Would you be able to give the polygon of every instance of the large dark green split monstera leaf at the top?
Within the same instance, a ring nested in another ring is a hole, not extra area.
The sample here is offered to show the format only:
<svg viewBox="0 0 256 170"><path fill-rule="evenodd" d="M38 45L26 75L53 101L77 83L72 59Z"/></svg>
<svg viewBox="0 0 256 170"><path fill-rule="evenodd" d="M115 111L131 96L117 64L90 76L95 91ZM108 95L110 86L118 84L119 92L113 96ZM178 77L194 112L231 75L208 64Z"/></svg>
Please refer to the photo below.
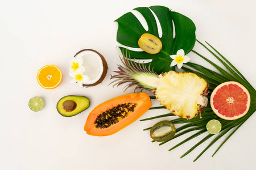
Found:
<svg viewBox="0 0 256 170"><path fill-rule="evenodd" d="M129 50L130 57L135 59L152 59L151 62L146 63L146 66L151 63L151 68L154 67L154 71L158 74L175 70L174 67L170 67L172 61L170 55L176 54L179 49L183 49L185 54L192 50L196 41L195 24L186 16L173 12L163 6L138 7L134 10L142 14L148 25L148 30L146 31L143 28L133 13L128 12L115 20L118 23L117 41L130 48L139 48L139 37L143 33L151 33L162 41L162 50L158 54ZM162 29L161 37L159 37L159 28L152 12L154 12L159 20L160 29ZM119 48L126 50L123 47Z"/></svg>

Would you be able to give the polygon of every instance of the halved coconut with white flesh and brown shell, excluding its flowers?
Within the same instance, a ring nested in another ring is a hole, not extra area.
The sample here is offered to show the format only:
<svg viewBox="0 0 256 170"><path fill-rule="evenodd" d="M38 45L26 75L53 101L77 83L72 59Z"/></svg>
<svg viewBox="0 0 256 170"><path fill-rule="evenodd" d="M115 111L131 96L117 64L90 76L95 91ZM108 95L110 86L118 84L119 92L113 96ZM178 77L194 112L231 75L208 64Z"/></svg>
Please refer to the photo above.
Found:
<svg viewBox="0 0 256 170"><path fill-rule="evenodd" d="M84 87L96 86L104 80L108 65L105 58L96 50L83 49L76 53L74 57L82 57L82 66L85 68L85 75L89 77L89 82L82 84Z"/></svg>

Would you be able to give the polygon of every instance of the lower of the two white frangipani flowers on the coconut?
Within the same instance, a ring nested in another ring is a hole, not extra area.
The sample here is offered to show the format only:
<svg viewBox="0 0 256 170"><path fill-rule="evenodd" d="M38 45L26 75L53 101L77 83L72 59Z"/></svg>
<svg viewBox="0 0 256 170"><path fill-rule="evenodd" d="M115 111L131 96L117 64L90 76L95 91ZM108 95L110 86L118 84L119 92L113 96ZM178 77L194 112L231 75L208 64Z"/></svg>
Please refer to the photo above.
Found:
<svg viewBox="0 0 256 170"><path fill-rule="evenodd" d="M76 69L76 71L72 71L69 75L73 78L71 83L77 83L80 87L82 87L83 83L90 80L87 75L84 75L84 71L81 68Z"/></svg>

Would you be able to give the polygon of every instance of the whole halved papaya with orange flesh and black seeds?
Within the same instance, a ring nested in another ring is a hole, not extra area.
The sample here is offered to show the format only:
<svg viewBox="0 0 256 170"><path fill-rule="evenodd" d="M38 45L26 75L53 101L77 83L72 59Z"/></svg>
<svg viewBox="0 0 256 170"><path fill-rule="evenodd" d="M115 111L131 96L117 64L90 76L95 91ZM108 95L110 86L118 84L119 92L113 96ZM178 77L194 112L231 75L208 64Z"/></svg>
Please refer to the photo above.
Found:
<svg viewBox="0 0 256 170"><path fill-rule="evenodd" d="M141 117L151 105L144 92L115 97L90 112L84 130L94 136L112 135Z"/></svg>

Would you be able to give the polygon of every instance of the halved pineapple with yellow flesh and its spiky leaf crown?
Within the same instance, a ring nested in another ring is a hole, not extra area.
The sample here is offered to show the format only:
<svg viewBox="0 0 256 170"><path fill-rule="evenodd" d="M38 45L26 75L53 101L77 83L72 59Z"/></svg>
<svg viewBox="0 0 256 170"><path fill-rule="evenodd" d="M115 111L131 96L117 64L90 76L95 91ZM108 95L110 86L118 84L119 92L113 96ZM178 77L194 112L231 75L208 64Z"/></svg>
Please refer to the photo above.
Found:
<svg viewBox="0 0 256 170"><path fill-rule="evenodd" d="M138 65L125 57L124 53L122 63L125 67L118 65L119 71L114 71L118 74L112 76L112 79L116 79L112 82L116 82L113 86L129 83L126 89L136 86L135 90L152 90L162 105L187 119L195 117L201 113L201 108L207 106L205 96L208 94L208 83L196 74L169 71L157 75L150 67L147 69L144 65Z"/></svg>

